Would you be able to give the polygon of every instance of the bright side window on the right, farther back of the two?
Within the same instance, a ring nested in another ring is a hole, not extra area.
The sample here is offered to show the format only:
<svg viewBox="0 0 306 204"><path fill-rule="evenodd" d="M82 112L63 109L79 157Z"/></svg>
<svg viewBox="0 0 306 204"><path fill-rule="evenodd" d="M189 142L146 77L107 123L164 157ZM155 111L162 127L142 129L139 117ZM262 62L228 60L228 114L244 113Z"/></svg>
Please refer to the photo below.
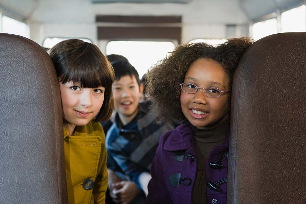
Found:
<svg viewBox="0 0 306 204"><path fill-rule="evenodd" d="M277 21L276 18L264 20L253 24L253 39L259 40L268 35L277 33Z"/></svg>

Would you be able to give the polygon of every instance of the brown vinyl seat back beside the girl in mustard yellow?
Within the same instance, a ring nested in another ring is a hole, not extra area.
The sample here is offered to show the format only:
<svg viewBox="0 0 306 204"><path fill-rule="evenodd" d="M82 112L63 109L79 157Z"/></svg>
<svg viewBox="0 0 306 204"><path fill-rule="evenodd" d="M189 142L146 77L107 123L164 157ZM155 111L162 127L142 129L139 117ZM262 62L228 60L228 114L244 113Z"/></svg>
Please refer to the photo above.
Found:
<svg viewBox="0 0 306 204"><path fill-rule="evenodd" d="M0 33L0 203L67 203L59 84L47 52Z"/></svg>

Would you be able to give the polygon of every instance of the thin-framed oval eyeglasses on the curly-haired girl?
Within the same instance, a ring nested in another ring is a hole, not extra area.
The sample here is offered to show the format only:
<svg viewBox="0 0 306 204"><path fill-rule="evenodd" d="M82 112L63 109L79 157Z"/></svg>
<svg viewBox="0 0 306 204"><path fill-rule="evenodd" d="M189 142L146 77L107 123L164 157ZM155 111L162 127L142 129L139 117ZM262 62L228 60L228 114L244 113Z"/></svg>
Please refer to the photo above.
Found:
<svg viewBox="0 0 306 204"><path fill-rule="evenodd" d="M221 91L221 89L216 87L197 87L196 85L193 85L192 83L180 83L180 86L182 88L182 91L184 91L187 94L195 94L199 91L199 89L203 89L203 93L210 97L210 98L218 98L221 96L221 94L226 94L230 91Z"/></svg>

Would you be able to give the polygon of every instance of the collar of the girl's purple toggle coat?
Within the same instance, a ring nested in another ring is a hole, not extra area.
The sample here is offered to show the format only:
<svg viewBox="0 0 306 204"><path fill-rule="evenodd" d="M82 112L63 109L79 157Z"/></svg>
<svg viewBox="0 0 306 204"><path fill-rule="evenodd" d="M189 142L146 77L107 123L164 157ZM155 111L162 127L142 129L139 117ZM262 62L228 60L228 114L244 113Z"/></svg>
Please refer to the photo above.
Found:
<svg viewBox="0 0 306 204"><path fill-rule="evenodd" d="M226 137L221 144L221 147L229 146L230 127L226 128ZM192 131L191 123L184 121L182 124L175 128L168 139L166 140L163 148L166 151L179 151L187 150L194 146L194 132Z"/></svg>

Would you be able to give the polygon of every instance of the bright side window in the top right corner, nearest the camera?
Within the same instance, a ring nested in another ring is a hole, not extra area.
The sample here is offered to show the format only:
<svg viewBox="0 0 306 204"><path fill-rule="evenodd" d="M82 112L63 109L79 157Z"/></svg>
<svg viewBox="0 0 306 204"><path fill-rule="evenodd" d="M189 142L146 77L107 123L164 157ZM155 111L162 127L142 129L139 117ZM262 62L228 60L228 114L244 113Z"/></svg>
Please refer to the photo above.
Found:
<svg viewBox="0 0 306 204"><path fill-rule="evenodd" d="M304 32L306 31L306 6L285 11L281 15L282 32Z"/></svg>

